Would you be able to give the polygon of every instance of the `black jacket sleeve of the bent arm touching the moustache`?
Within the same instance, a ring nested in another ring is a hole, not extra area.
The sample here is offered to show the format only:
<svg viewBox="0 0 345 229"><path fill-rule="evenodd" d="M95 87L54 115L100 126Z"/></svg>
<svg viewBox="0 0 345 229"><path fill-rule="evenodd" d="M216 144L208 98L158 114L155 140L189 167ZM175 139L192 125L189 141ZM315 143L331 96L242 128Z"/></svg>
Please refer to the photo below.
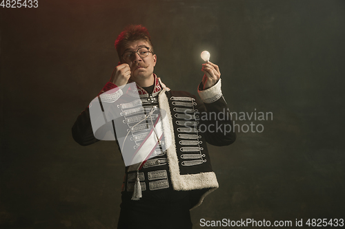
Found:
<svg viewBox="0 0 345 229"><path fill-rule="evenodd" d="M97 97L106 91L115 89L116 87L117 86L113 83L110 83L110 82L106 83L106 85L103 87L101 92L99 92ZM99 141L99 138L98 139L95 138L95 135L92 131L92 123L91 123L91 118L90 118L90 105L86 107L86 109L83 110L79 114L79 116L77 117L77 120L75 121L75 124L73 124L72 126L72 137L81 146L88 146L90 144L93 144ZM102 128L100 128L97 131L106 133L107 131L110 131L109 127L111 127L110 124L104 125ZM101 133L99 135L101 135Z"/></svg>

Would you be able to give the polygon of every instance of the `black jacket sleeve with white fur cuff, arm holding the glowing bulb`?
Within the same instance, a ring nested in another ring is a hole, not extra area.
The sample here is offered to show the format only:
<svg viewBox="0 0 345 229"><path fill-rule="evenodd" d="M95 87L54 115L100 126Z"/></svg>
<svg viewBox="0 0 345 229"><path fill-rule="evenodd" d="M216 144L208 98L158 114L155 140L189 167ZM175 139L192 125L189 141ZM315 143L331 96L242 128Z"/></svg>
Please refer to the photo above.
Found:
<svg viewBox="0 0 345 229"><path fill-rule="evenodd" d="M204 132L206 142L215 146L227 146L236 140L233 120L224 96L221 94L221 79L210 87L202 90L199 84L198 94L202 102L197 101L199 107L199 130Z"/></svg>

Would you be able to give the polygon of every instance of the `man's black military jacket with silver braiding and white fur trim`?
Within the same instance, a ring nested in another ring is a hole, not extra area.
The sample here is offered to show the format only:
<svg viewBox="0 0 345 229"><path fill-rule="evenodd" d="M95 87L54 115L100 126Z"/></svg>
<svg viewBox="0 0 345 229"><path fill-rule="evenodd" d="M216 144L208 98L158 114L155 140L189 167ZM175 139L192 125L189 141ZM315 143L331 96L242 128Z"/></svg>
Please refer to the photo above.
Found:
<svg viewBox="0 0 345 229"><path fill-rule="evenodd" d="M141 190L143 192L164 188L177 191L190 190L194 193L192 201L195 208L201 204L206 195L219 186L210 164L206 142L216 146L226 146L232 144L236 138L230 112L221 94L221 79L206 90L202 90L202 83L199 85L198 93L201 101L186 91L171 91L157 76L155 76L155 89L152 94L147 94L144 89L137 87L139 100L126 102L128 100L123 99L128 96L126 91L108 82L97 97L103 113L106 113L104 118L108 116L107 112L115 113L117 118L108 122L108 125L99 124L99 126L103 125L103 131L97 133L92 130L90 105L94 105L90 103L73 125L72 136L76 142L86 146L99 141L102 138L99 135L104 137L107 131L112 132L116 138L113 129L122 128L121 125L124 125L125 129L127 126L134 128L127 129L129 137L124 138L125 142L117 141L120 151L125 143L130 147L140 147L144 144L150 130L152 132L152 124L157 121L159 114L155 115L151 112L156 119L153 122L146 120L144 127L144 123L135 124L142 116L139 112L147 114L148 111L152 111L152 107L158 107L164 111L161 115L163 132L161 143L165 144L165 147L155 147L150 157L141 164L139 168ZM112 93L107 93L107 91L112 91ZM117 105L107 111L106 102L115 101ZM142 108L136 108L138 102L141 102ZM98 139L95 135L98 135ZM123 191L132 191L136 179L137 173L130 171L129 167L126 167Z"/></svg>

